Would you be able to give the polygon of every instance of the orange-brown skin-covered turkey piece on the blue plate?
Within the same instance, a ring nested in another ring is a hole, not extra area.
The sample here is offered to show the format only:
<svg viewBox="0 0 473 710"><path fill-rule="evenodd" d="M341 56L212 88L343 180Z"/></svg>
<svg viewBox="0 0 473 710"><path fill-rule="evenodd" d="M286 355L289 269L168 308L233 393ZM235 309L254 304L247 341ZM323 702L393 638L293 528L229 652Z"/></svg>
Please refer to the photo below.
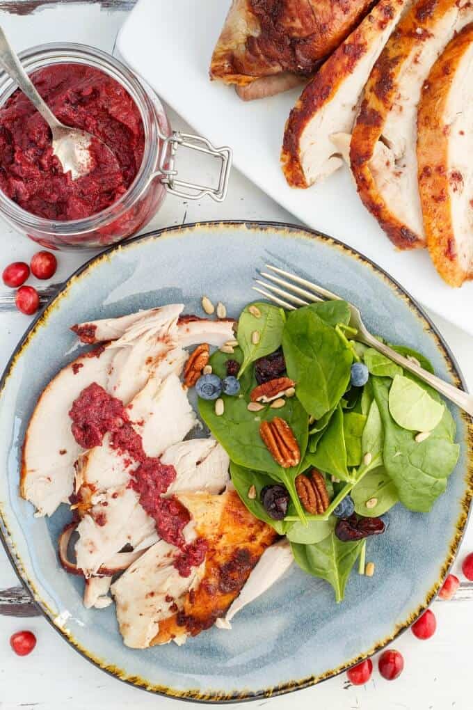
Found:
<svg viewBox="0 0 473 710"><path fill-rule="evenodd" d="M212 504L206 498L212 499ZM182 609L178 604L179 614L176 610L160 619L151 645L176 638L182 643L183 637L213 626L225 615L263 552L277 537L273 528L245 508L235 491L221 496L181 495L179 500L191 512L197 535L208 544L205 569L199 584L185 595Z"/></svg>

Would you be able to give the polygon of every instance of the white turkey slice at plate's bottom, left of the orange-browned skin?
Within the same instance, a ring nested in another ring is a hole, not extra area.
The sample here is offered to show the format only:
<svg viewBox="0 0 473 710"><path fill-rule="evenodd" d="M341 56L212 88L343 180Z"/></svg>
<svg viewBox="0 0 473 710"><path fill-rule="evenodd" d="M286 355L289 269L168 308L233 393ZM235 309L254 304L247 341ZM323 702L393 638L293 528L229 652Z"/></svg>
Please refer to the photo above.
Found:
<svg viewBox="0 0 473 710"><path fill-rule="evenodd" d="M129 648L148 648L160 621L184 604L184 595L199 583L204 564L181 577L173 566L179 550L160 540L113 583L111 592L123 642ZM177 637L185 637L185 629Z"/></svg>

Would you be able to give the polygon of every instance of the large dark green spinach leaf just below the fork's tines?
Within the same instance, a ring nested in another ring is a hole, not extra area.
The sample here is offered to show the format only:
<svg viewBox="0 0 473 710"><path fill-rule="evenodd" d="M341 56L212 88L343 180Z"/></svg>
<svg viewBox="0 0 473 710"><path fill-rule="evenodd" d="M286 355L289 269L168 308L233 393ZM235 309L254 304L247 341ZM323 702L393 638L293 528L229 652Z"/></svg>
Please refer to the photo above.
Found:
<svg viewBox="0 0 473 710"><path fill-rule="evenodd" d="M296 382L297 398L306 412L320 420L347 389L352 351L310 308L289 314L282 347L287 374Z"/></svg>

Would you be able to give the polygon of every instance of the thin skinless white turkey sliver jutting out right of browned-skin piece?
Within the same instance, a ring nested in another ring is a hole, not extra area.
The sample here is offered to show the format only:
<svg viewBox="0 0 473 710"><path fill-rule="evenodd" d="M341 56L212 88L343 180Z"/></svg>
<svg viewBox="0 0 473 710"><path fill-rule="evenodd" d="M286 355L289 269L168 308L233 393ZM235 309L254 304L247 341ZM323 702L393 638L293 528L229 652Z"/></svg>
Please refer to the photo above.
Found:
<svg viewBox="0 0 473 710"><path fill-rule="evenodd" d="M287 572L293 562L294 556L292 555L291 545L289 545L285 537L283 540L279 540L279 542L275 542L274 545L268 547L260 557L255 569L250 573L250 577L248 577L240 594L230 604L226 615L218 618L215 625L218 628L232 628L230 621L235 614L241 611L244 606L265 594L265 591L277 582L284 572Z"/></svg>

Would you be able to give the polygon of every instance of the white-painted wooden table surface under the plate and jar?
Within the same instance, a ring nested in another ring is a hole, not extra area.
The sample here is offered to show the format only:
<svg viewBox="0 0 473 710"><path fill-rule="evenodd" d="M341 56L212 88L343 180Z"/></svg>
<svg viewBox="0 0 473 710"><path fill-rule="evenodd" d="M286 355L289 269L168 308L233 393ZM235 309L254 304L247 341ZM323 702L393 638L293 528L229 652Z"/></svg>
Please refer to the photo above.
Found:
<svg viewBox="0 0 473 710"><path fill-rule="evenodd" d="M156 1L173 1L179 11L179 0ZM118 28L132 6L133 0L87 3L0 0L0 22L17 49L48 41L70 40L111 51ZM208 38L209 46L213 39ZM150 48L150 59L151 53ZM174 129L184 129L179 117L170 112L170 118ZM228 198L223 205L208 200L185 204L169 197L150 226L242 218L295 221L257 187L233 171ZM5 224L0 224L0 244L0 270L10 261L28 261L35 251L32 242L10 231ZM85 258L86 255L81 253L61 253L57 280L66 278ZM433 320L457 357L471 389L473 339L438 317ZM21 314L0 313L0 368L6 364L28 322L29 319ZM465 536L462 550L463 555L473 550L472 526ZM17 585L16 575L0 549L0 589ZM454 601L435 602L438 630L433 639L418 641L410 631L399 638L395 645L403 652L406 667L395 682L384 681L375 668L366 687L348 687L343 675L296 694L256 701L255 706L265 705L271 710L471 710L473 603L469 599L472 597L464 589ZM25 658L16 657L9 647L11 633L22 628L30 628L38 638L35 651ZM184 703L147 694L104 674L69 648L41 617L0 616L1 710L20 707L121 710L129 706L165 710L184 707ZM187 703L185 706L190 707Z"/></svg>

